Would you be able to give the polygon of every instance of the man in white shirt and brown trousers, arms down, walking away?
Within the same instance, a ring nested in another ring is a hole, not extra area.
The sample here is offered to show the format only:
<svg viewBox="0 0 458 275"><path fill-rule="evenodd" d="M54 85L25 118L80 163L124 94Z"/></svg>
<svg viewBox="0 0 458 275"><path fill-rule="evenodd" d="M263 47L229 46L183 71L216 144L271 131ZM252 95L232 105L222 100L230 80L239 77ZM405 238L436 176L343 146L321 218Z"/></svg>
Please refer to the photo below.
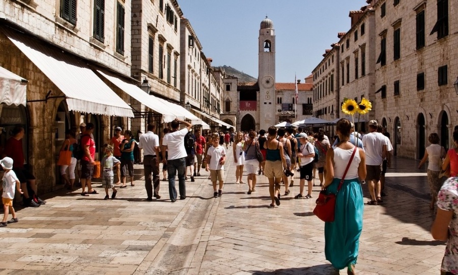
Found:
<svg viewBox="0 0 458 275"><path fill-rule="evenodd" d="M159 136L154 133L156 126L148 124L147 131L141 135L138 148L143 149L143 168L145 170L145 189L147 200L152 201L153 197L160 199L159 196ZM153 176L151 176L153 174ZM152 184L153 182L153 184ZM154 185L154 192L153 192Z"/></svg>

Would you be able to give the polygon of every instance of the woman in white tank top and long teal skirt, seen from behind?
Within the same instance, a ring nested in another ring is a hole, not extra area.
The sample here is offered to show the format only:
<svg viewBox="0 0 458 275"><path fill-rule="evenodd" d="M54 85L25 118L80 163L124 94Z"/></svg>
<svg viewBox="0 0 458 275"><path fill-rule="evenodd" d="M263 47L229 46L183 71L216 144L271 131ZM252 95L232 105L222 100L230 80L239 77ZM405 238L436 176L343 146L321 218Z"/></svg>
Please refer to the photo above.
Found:
<svg viewBox="0 0 458 275"><path fill-rule="evenodd" d="M363 223L363 194L360 180L366 177L365 155L361 148L350 140L352 126L350 120L337 121L336 131L340 142L326 154L326 181L323 189L327 194L337 194L335 220L325 223L326 260L337 269L347 267L348 274L355 273L358 258L359 236ZM340 179L345 173L353 150L357 150L344 178L344 184L337 192Z"/></svg>

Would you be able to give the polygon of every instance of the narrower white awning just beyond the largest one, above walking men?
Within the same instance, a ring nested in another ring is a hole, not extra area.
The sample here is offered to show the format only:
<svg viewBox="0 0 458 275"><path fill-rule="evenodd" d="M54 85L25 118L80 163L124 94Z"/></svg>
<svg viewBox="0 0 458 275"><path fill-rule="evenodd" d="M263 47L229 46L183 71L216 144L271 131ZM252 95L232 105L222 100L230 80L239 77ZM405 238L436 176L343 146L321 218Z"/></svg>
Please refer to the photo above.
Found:
<svg viewBox="0 0 458 275"><path fill-rule="evenodd" d="M104 74L101 71L97 72L99 72L103 77L108 79L111 83L115 84L118 88L125 91L126 94L139 101L141 104L145 104L148 108L152 109L153 111L162 114L163 123L169 123L170 121L174 120L175 117L177 117L174 114L173 110L170 110L168 105L165 105L157 97L148 95L140 87L124 82L123 80L117 77Z"/></svg>

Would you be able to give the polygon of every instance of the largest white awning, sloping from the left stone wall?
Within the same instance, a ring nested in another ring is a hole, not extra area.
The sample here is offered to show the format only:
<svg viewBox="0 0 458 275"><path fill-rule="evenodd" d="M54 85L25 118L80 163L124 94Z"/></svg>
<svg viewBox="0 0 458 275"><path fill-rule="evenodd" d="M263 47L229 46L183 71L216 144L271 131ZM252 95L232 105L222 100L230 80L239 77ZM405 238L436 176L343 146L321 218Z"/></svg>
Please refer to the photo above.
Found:
<svg viewBox="0 0 458 275"><path fill-rule="evenodd" d="M6 35L65 94L69 110L134 116L130 106L82 60L32 38L12 32Z"/></svg>

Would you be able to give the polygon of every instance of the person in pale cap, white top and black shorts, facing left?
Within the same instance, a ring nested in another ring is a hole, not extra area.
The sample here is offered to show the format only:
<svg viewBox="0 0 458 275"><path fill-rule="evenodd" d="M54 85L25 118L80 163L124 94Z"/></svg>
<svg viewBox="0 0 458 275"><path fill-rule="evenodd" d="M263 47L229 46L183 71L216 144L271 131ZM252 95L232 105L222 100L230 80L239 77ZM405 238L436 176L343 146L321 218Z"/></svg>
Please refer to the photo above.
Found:
<svg viewBox="0 0 458 275"><path fill-rule="evenodd" d="M300 158L300 181L299 181L299 194L297 194L295 199L311 199L312 195L312 170L313 170L313 160L315 157L314 146L310 143L307 134L304 132L298 135L299 142L301 144L297 156ZM307 195L304 196L304 186L305 180L308 184Z"/></svg>

